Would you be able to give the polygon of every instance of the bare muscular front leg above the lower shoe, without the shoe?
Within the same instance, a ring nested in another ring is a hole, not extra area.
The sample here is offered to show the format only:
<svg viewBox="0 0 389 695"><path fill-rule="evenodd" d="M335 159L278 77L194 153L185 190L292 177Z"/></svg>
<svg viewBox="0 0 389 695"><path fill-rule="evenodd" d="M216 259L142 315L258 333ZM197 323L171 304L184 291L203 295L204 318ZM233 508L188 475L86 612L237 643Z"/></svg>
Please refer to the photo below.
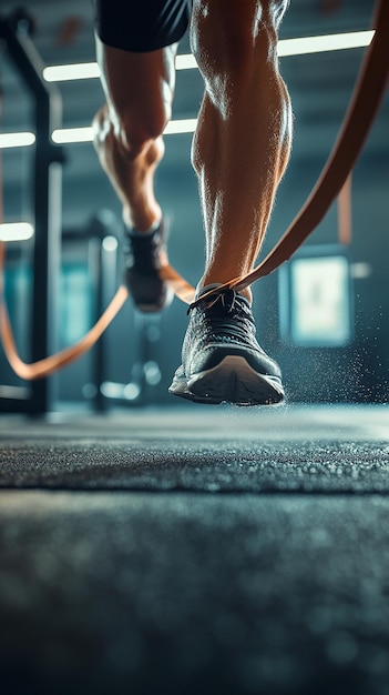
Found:
<svg viewBox="0 0 389 695"><path fill-rule="evenodd" d="M203 285L252 270L287 165L291 111L276 54L286 7L194 0L192 49L205 82L193 142L206 233Z"/></svg>

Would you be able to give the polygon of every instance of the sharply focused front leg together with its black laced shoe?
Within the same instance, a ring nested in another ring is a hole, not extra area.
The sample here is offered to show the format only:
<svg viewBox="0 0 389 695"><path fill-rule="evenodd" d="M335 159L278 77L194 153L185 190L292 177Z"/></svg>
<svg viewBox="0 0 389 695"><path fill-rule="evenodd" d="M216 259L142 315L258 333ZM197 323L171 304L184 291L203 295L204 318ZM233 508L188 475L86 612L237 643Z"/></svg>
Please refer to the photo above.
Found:
<svg viewBox="0 0 389 695"><path fill-rule="evenodd" d="M278 73L286 0L194 0L191 39L205 93L193 141L206 233L199 288L252 270L287 165L291 113ZM170 391L201 403L284 399L277 363L258 345L252 293L217 291L191 306Z"/></svg>

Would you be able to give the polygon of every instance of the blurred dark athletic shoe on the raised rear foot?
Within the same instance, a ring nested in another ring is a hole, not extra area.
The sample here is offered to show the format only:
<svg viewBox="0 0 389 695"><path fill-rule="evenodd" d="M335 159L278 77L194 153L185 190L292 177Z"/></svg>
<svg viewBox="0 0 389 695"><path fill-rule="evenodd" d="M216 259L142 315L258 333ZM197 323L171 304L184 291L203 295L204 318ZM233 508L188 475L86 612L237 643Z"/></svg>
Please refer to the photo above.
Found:
<svg viewBox="0 0 389 695"><path fill-rule="evenodd" d="M173 291L161 280L158 269L167 263L164 224L146 234L125 234L124 282L135 306L143 312L162 311Z"/></svg>

